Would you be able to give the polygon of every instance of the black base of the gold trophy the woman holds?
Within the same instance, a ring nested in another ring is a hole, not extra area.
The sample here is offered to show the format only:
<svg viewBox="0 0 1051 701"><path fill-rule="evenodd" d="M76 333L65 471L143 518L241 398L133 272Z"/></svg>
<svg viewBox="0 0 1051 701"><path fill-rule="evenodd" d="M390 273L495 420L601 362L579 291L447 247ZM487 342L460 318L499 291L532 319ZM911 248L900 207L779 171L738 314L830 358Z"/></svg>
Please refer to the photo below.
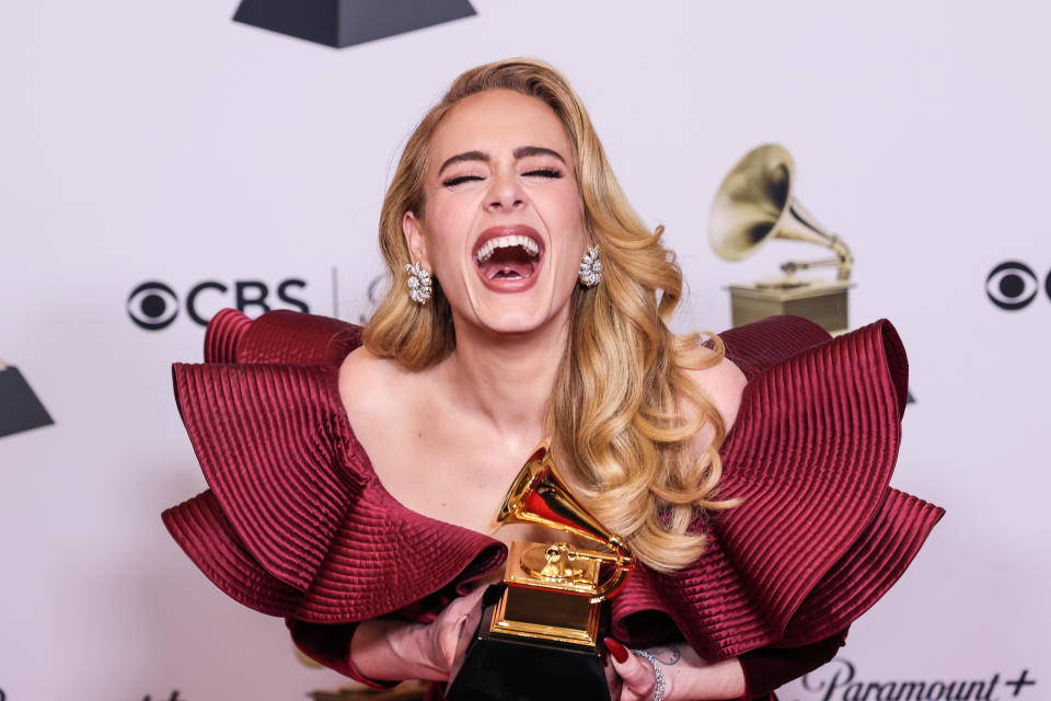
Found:
<svg viewBox="0 0 1051 701"><path fill-rule="evenodd" d="M609 701L596 646L530 642L490 631L501 587L490 587L463 662L449 681L448 701ZM490 596L490 595L496 596Z"/></svg>

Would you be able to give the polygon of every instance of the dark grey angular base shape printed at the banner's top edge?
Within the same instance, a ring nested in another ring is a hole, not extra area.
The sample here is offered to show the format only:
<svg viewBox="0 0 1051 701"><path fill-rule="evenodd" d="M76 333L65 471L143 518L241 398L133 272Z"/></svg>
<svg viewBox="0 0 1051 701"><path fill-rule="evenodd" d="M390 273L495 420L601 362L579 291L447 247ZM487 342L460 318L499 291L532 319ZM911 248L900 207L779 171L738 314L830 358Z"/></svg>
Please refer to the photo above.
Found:
<svg viewBox="0 0 1051 701"><path fill-rule="evenodd" d="M233 21L344 48L474 14L467 0L241 0Z"/></svg>

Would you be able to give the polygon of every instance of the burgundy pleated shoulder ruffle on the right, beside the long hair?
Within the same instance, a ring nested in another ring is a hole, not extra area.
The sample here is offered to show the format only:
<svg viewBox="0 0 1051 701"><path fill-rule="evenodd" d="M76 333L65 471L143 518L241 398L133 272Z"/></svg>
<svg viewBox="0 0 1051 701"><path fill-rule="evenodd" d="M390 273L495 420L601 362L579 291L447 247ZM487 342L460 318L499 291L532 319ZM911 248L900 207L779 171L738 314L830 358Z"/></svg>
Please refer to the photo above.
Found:
<svg viewBox="0 0 1051 701"><path fill-rule="evenodd" d="M778 318L721 337L750 376L720 451L719 494L742 504L695 524L711 545L694 564L640 568L613 600L617 635L646 642L674 625L709 659L844 630L943 515L889 487L908 383L889 322L828 340Z"/></svg>

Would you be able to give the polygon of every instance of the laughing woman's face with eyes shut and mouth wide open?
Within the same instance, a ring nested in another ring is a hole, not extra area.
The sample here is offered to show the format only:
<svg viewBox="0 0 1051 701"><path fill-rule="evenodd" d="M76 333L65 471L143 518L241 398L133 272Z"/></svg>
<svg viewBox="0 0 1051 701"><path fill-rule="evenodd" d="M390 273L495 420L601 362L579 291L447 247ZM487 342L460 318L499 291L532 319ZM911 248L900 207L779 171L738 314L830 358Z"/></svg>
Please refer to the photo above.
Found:
<svg viewBox="0 0 1051 701"><path fill-rule="evenodd" d="M423 218L403 221L413 260L441 283L457 323L529 332L568 319L588 245L569 138L536 97L466 97L431 138Z"/></svg>

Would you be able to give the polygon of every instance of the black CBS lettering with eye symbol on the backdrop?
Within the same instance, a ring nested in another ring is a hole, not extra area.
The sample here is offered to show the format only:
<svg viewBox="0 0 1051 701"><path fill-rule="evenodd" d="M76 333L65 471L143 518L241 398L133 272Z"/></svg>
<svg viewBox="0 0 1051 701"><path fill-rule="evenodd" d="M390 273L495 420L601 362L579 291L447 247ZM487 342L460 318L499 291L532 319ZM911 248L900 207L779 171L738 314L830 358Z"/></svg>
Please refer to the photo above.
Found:
<svg viewBox="0 0 1051 701"><path fill-rule="evenodd" d="M197 283L186 294L185 309L195 323L206 326L211 317L223 307L235 307L241 311L269 311L272 304L280 304L299 311L310 311L305 301L293 296L296 290L307 287L307 281L289 277L278 283L274 289L261 280L234 280L231 285L218 280ZM273 292L273 295L272 295ZM276 297L276 301L275 301ZM206 312L205 309L209 309ZM159 280L148 280L138 285L128 295L128 317L140 329L160 331L170 326L180 312L178 295L171 286Z"/></svg>

